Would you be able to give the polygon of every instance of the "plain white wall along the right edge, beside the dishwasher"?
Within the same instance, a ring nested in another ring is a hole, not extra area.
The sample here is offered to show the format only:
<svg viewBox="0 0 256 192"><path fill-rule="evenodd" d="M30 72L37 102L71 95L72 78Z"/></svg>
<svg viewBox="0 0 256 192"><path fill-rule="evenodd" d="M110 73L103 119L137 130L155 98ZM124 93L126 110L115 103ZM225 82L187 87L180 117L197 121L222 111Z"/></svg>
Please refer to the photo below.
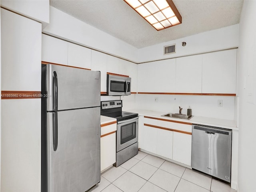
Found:
<svg viewBox="0 0 256 192"><path fill-rule="evenodd" d="M239 27L238 95L239 143L238 188L255 191L256 173L256 1L245 0Z"/></svg>

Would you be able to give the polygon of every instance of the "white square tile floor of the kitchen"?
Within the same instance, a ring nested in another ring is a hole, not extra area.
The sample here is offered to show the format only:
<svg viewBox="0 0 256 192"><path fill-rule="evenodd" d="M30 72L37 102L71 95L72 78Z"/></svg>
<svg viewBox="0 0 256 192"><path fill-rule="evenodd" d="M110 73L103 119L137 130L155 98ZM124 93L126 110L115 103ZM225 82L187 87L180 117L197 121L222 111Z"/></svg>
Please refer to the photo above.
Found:
<svg viewBox="0 0 256 192"><path fill-rule="evenodd" d="M101 176L89 192L235 192L228 184L139 151Z"/></svg>

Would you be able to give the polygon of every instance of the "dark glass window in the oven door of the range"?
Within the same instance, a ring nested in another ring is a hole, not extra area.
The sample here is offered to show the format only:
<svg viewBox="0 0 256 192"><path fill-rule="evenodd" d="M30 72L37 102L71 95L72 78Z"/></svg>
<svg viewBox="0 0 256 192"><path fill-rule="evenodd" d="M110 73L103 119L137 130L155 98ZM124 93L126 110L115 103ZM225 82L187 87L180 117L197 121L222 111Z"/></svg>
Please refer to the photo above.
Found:
<svg viewBox="0 0 256 192"><path fill-rule="evenodd" d="M121 126L121 144L136 138L136 122Z"/></svg>

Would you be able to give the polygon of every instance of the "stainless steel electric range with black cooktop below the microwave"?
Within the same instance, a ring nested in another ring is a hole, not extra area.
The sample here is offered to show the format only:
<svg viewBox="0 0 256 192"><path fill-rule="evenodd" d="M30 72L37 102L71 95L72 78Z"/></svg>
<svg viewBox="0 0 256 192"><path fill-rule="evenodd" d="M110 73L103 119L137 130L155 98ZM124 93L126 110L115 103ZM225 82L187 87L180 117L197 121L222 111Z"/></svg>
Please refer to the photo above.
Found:
<svg viewBox="0 0 256 192"><path fill-rule="evenodd" d="M122 111L122 100L102 101L100 114L116 118L116 164L138 154L138 114Z"/></svg>

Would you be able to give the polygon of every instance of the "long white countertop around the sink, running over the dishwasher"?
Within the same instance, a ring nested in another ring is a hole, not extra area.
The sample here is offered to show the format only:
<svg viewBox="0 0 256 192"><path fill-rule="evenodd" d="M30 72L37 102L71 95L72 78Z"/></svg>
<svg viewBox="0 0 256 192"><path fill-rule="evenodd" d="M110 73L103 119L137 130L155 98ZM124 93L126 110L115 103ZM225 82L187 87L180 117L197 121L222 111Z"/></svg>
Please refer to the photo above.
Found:
<svg viewBox="0 0 256 192"><path fill-rule="evenodd" d="M138 113L139 115L143 115L143 116L152 116L156 118L170 119L170 120L175 120L180 122L190 122L192 124L201 124L206 126L214 126L214 127L238 130L238 128L236 127L236 121L234 120L217 119L217 118L209 118L209 117L201 117L201 116L193 116L192 118L190 118L190 120L186 120L186 119L180 119L180 118L171 118L171 117L161 116L168 112L142 110L142 109L130 109L125 111Z"/></svg>

